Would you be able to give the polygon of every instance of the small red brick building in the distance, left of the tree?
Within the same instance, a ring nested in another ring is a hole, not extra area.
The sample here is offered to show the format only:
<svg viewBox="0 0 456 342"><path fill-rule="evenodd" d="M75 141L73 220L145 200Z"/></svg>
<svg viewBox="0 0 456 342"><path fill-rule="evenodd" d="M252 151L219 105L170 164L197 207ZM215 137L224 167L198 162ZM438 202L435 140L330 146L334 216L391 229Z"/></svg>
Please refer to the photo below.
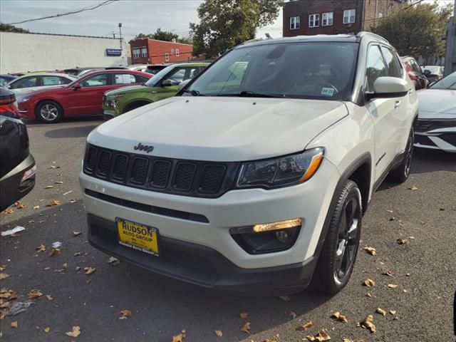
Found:
<svg viewBox="0 0 456 342"><path fill-rule="evenodd" d="M132 64L189 61L193 52L192 45L150 38L130 41L130 49Z"/></svg>

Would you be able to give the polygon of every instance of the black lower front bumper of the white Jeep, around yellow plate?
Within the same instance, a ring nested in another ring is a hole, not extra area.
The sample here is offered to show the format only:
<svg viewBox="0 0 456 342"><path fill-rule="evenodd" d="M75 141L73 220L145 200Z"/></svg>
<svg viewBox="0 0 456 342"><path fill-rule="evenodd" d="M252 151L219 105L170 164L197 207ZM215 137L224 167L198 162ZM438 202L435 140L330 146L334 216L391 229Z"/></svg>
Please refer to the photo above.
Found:
<svg viewBox="0 0 456 342"><path fill-rule="evenodd" d="M160 237L160 257L123 247L115 222L88 214L88 241L119 259L157 274L207 288L258 294L293 294L309 284L316 258L286 266L242 269L222 254L199 244Z"/></svg>

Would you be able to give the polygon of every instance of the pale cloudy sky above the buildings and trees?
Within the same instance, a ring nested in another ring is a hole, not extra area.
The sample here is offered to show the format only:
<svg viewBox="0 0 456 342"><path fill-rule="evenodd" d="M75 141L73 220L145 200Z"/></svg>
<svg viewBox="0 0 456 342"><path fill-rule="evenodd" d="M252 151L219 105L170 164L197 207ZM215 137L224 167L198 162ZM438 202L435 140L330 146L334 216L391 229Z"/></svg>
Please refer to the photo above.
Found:
<svg viewBox="0 0 456 342"><path fill-rule="evenodd" d="M12 23L41 16L61 14L100 4L102 0L0 0L0 21ZM157 28L188 36L189 23L198 22L197 7L202 0L120 0L92 11L71 14L61 18L32 21L16 25L33 32L77 34L86 36L118 37L118 23L122 36L130 41L138 33L153 33ZM425 0L433 2L433 0ZM453 0L438 0L442 5ZM282 36L282 13L274 24L257 30L272 37Z"/></svg>

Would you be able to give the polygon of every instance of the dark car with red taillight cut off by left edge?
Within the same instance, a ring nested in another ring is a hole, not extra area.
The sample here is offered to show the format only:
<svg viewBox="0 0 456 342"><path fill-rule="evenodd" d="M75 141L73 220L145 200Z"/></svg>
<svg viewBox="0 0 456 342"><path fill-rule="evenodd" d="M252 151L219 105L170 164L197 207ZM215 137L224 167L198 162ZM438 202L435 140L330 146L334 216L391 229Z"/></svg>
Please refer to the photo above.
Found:
<svg viewBox="0 0 456 342"><path fill-rule="evenodd" d="M3 87L0 87L0 160L0 211L3 211L31 192L36 172L16 97Z"/></svg>

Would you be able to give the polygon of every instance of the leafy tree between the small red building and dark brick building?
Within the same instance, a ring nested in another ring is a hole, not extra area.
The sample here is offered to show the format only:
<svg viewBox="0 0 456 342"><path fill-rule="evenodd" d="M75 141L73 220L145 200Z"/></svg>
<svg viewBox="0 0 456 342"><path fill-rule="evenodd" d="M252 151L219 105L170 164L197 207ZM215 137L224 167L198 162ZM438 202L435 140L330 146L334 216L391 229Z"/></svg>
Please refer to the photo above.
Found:
<svg viewBox="0 0 456 342"><path fill-rule="evenodd" d="M198 7L199 24L190 24L195 56L219 56L227 48L255 37L257 27L271 24L282 0L205 0Z"/></svg>

